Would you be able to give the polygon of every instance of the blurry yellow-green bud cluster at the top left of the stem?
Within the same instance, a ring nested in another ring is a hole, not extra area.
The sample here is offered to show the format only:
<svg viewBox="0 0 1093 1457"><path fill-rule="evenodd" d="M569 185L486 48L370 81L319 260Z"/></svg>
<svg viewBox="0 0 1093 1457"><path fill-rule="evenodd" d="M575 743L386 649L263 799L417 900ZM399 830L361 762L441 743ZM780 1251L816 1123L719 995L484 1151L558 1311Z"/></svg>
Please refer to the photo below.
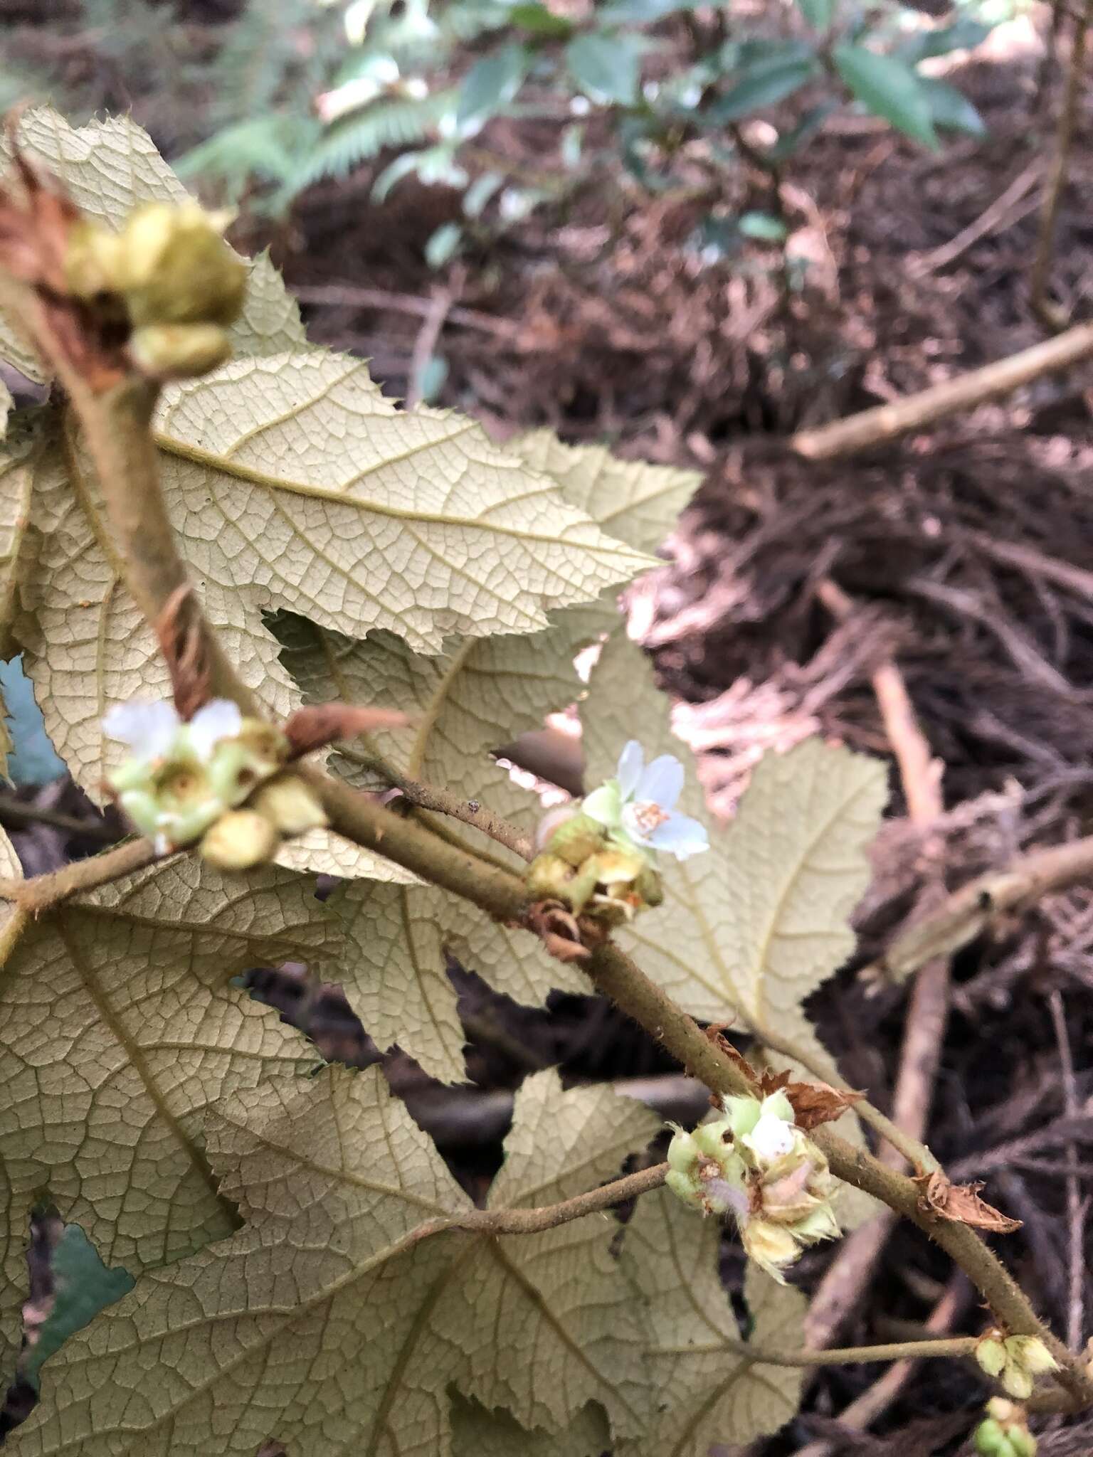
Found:
<svg viewBox="0 0 1093 1457"><path fill-rule="evenodd" d="M68 288L128 323L133 363L154 379L205 374L232 351L246 267L223 239L229 213L144 203L120 233L83 219L68 236Z"/></svg>

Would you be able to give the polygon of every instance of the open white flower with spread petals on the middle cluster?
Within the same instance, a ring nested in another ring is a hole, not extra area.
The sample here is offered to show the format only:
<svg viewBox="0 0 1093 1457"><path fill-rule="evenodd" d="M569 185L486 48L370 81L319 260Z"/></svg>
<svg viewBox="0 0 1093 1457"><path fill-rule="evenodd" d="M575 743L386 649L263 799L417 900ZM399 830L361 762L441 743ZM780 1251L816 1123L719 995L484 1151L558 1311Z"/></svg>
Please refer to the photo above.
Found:
<svg viewBox="0 0 1093 1457"><path fill-rule="evenodd" d="M708 849L710 836L698 820L675 813L682 790L679 759L662 753L646 765L641 745L631 739L619 755L616 777L587 796L584 813L635 845L686 860Z"/></svg>

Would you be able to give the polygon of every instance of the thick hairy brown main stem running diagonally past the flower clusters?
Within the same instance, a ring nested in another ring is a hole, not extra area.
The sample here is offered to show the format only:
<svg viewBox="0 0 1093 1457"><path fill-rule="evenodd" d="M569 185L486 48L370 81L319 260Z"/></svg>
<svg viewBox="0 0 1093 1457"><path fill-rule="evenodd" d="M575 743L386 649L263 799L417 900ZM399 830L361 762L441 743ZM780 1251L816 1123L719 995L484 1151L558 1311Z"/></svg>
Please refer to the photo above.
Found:
<svg viewBox="0 0 1093 1457"><path fill-rule="evenodd" d="M96 395L57 347L44 310L28 310L23 316L39 325L34 331L35 339L57 366L85 428L130 590L154 627L172 594L187 580L163 504L149 428L154 392L143 382L128 380ZM214 691L251 710L249 691L239 682L200 616L197 599L191 596L189 600L194 602L194 625L207 644ZM392 814L318 769L303 768L302 772L318 791L332 828L347 839L465 898L498 921L525 922L528 896L517 876L442 841L424 825ZM634 1017L713 1093L751 1091L746 1074L616 946L600 946L583 965L600 992ZM924 1212L918 1186L911 1179L886 1169L864 1148L855 1148L829 1128L816 1129L813 1136L837 1177L874 1195L934 1238L973 1281L997 1320L1014 1335L1041 1336L1061 1364L1058 1380L1084 1403L1093 1405L1093 1381L1078 1359L1038 1320L1026 1295L972 1228Z"/></svg>

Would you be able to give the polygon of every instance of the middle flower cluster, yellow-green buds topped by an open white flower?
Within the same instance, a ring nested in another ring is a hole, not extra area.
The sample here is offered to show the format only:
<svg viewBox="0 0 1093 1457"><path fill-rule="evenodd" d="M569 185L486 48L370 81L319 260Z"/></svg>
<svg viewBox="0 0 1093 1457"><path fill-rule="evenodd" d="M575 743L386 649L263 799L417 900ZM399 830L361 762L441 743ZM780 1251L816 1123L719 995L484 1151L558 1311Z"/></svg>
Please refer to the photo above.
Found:
<svg viewBox="0 0 1093 1457"><path fill-rule="evenodd" d="M679 759L666 753L646 766L641 745L631 740L614 779L544 819L528 871L532 895L608 924L660 905L654 854L686 860L710 848L705 828L675 812L682 788Z"/></svg>

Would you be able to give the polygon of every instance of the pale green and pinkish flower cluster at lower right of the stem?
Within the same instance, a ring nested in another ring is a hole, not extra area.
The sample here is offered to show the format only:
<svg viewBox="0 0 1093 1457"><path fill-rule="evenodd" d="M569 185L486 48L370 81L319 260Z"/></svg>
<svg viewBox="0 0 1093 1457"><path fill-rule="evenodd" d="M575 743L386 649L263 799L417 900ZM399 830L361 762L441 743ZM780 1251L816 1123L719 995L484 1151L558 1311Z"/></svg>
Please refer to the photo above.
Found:
<svg viewBox="0 0 1093 1457"><path fill-rule="evenodd" d="M724 1116L676 1128L667 1186L702 1214L733 1214L745 1252L777 1281L802 1250L837 1238L828 1160L797 1128L784 1093L727 1097Z"/></svg>

